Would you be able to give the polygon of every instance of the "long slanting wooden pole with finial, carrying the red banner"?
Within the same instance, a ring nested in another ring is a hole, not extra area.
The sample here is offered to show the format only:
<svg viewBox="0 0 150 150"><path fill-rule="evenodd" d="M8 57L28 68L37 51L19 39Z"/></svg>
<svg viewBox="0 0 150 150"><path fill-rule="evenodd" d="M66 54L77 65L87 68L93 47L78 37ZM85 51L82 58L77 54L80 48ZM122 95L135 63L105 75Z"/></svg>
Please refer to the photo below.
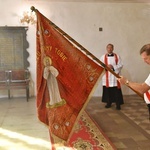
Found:
<svg viewBox="0 0 150 150"><path fill-rule="evenodd" d="M38 11L34 6L31 6L32 12ZM86 55L90 56L93 60L98 62L103 68L111 72L116 78L121 78L118 74L116 74L113 70L111 70L107 65L105 65L103 62L101 62L98 58L96 58L92 53L90 53L86 48L84 48L81 44L79 44L77 41L75 41L71 36L69 36L66 32L64 32L62 29L60 29L57 25L55 25L52 21L50 21L50 24L57 30L59 31L64 37L66 37L69 41L73 42L76 46L78 46L82 51L86 53ZM128 86L128 85L127 85ZM144 99L143 95L139 93L138 91L134 90L130 86L128 86L131 90L133 90L137 95L139 95L141 98Z"/></svg>

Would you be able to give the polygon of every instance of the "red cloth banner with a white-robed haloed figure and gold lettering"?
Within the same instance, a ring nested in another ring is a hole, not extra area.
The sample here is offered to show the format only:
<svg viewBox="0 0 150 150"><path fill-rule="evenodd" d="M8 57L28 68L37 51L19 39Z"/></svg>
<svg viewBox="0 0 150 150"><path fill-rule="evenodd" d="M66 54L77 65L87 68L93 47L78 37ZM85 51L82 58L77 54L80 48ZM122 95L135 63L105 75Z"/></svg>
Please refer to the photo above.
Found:
<svg viewBox="0 0 150 150"><path fill-rule="evenodd" d="M36 14L38 117L52 135L67 141L103 68Z"/></svg>

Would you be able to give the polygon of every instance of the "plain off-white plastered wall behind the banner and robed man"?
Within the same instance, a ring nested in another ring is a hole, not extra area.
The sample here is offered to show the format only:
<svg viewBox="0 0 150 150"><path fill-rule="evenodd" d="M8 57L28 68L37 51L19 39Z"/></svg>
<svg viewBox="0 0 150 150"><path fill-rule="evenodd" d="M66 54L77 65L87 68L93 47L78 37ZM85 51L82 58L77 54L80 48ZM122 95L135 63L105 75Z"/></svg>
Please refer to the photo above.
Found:
<svg viewBox="0 0 150 150"><path fill-rule="evenodd" d="M143 82L149 74L148 65L139 55L140 48L150 41L150 3L84 3L48 2L48 0L0 0L0 26L22 26L19 16L35 6L43 15L78 41L96 57L106 52L113 43L124 62L122 74L135 82ZM103 31L99 31L99 27ZM27 40L30 56L29 70L36 94L36 26L29 25ZM33 90L34 89L34 90ZM101 82L94 96L101 96ZM123 86L123 94L133 94Z"/></svg>

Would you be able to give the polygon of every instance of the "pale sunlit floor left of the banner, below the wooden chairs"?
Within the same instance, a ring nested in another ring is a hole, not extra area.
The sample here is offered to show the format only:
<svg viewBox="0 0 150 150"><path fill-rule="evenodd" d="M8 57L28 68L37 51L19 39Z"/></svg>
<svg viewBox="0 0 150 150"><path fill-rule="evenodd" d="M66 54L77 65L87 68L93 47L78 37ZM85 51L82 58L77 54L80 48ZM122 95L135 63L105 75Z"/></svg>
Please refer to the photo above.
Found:
<svg viewBox="0 0 150 150"><path fill-rule="evenodd" d="M49 150L48 128L35 106L35 98L0 99L0 150Z"/></svg>

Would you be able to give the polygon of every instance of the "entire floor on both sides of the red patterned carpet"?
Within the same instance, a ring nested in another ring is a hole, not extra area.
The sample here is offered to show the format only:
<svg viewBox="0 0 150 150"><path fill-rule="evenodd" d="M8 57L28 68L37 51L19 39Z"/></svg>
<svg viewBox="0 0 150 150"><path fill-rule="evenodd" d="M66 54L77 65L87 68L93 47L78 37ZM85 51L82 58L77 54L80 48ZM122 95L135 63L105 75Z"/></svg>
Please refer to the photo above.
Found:
<svg viewBox="0 0 150 150"><path fill-rule="evenodd" d="M86 110L117 150L150 150L150 121L138 96L124 96L120 111L94 97ZM0 98L0 150L49 150L48 128L36 116L35 98Z"/></svg>

